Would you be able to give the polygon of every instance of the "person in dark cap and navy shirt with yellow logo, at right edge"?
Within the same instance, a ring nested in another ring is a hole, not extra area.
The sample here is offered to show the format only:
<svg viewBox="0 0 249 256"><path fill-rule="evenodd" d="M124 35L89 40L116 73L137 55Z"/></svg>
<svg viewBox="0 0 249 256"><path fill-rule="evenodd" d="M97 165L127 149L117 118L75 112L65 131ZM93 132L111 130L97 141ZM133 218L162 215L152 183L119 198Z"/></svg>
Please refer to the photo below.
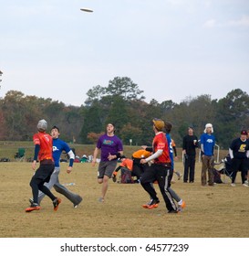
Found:
<svg viewBox="0 0 249 256"><path fill-rule="evenodd" d="M241 131L240 137L233 140L229 147L229 154L232 159L232 187L235 187L235 179L237 171L241 171L241 179L244 187L248 187L246 184L246 175L248 171L248 158L249 158L249 141L247 140L246 130Z"/></svg>

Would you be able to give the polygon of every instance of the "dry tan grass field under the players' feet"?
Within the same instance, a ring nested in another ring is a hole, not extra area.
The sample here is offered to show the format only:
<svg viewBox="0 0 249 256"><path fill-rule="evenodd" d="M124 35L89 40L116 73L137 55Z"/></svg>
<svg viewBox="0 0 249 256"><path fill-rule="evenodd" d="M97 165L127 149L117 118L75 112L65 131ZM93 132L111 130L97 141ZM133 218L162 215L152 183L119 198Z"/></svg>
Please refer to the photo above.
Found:
<svg viewBox="0 0 249 256"><path fill-rule="evenodd" d="M172 188L186 201L187 207L177 215L169 215L163 203L159 208L144 209L149 200L140 184L118 184L109 181L105 203L99 203L101 186L97 183L97 166L76 163L71 174L62 163L60 182L75 183L67 188L84 197L78 208L67 198L57 212L45 197L41 210L26 213L31 197L29 181L33 175L31 163L0 163L2 238L248 238L248 187L227 184L202 187L201 164L197 163L195 183ZM176 162L182 172L182 162ZM176 178L175 178L176 179ZM159 191L158 187L156 187ZM54 189L53 189L53 192ZM57 195L57 192L55 192ZM59 195L58 195L59 196Z"/></svg>

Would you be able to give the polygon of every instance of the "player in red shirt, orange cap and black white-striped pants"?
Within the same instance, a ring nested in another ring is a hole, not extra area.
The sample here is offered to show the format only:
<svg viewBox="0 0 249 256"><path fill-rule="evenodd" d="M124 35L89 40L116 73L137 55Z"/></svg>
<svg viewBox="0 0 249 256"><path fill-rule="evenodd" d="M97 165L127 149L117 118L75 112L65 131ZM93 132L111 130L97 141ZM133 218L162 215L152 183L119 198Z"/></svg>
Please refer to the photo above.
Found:
<svg viewBox="0 0 249 256"><path fill-rule="evenodd" d="M166 136L162 133L164 122L161 119L153 119L152 122L155 133L152 143L153 154L145 159L141 159L140 163L145 164L150 161L153 161L153 163L142 174L140 184L152 198L147 208L157 208L160 203L156 190L150 184L151 182L158 181L168 213L178 213L177 206L171 197L171 192L168 190L171 175L171 159Z"/></svg>

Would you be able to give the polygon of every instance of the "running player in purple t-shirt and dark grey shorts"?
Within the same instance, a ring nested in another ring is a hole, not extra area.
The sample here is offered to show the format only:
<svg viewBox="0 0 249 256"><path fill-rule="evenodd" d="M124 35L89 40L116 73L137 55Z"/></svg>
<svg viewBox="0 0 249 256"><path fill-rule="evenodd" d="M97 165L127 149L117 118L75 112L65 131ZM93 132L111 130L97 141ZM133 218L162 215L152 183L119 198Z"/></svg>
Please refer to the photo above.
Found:
<svg viewBox="0 0 249 256"><path fill-rule="evenodd" d="M119 137L115 135L115 126L113 123L108 123L107 133L99 137L93 153L92 166L95 166L97 162L96 159L99 150L101 150L101 155L98 168L98 182L102 184L99 202L104 202L108 191L109 178L116 168L119 157L123 155L123 144Z"/></svg>

